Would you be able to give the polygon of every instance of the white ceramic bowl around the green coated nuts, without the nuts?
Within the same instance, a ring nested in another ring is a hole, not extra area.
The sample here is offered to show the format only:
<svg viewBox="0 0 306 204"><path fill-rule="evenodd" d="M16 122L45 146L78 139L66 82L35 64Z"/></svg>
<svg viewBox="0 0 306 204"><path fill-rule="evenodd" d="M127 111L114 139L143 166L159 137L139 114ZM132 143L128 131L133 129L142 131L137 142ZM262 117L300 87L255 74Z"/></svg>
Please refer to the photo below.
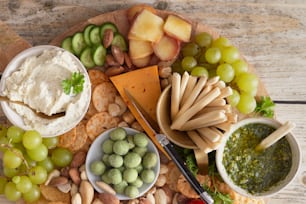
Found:
<svg viewBox="0 0 306 204"><path fill-rule="evenodd" d="M109 138L109 133L115 128L109 129L105 132L103 132L101 135L99 135L94 142L92 143L92 145L90 146L90 149L87 152L87 157L86 157L86 173L87 173L87 177L88 180L90 181L90 183L94 186L95 190L98 191L99 193L102 193L103 190L101 190L101 188L99 188L96 185L96 181L101 181L100 176L96 176L93 173L91 173L90 171L90 164L95 161L95 160L101 160L103 157L103 151L102 151L102 143ZM134 135L136 133L139 133L139 131L132 129L132 128L124 128L127 132L128 135ZM148 138L149 144L147 146L148 151L150 152L154 152L157 155L157 165L153 168L154 173L155 173L155 178L153 180L152 183L146 184L143 183L143 185L138 189L139 190L139 195L138 197L142 196L143 194L145 194L148 190L151 189L151 187L155 184L157 178L158 178L158 174L159 174L159 170L160 170L160 158L159 158L159 154L158 154L158 150L155 147L155 145L153 144L153 142L150 140L150 138ZM123 195L123 194L118 194L116 195L119 200L130 200L131 198Z"/></svg>

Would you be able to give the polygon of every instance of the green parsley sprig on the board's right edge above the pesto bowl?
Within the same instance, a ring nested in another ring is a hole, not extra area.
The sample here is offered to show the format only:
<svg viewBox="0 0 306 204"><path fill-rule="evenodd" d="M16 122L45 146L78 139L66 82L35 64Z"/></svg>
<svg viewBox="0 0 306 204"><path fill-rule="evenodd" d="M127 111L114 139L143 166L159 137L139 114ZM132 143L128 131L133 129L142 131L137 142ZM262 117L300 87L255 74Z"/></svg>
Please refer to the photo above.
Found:
<svg viewBox="0 0 306 204"><path fill-rule="evenodd" d="M256 102L255 112L268 118L274 116L275 104L269 96L261 96L260 100Z"/></svg>

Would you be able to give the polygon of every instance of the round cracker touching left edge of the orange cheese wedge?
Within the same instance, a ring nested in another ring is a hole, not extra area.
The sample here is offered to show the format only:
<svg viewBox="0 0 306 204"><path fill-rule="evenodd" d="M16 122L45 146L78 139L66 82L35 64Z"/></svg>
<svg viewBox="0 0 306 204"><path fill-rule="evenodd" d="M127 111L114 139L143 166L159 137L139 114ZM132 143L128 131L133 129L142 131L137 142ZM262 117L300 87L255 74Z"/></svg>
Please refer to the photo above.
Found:
<svg viewBox="0 0 306 204"><path fill-rule="evenodd" d="M92 92L92 103L98 112L107 111L108 105L115 101L118 92L111 82L102 82Z"/></svg>

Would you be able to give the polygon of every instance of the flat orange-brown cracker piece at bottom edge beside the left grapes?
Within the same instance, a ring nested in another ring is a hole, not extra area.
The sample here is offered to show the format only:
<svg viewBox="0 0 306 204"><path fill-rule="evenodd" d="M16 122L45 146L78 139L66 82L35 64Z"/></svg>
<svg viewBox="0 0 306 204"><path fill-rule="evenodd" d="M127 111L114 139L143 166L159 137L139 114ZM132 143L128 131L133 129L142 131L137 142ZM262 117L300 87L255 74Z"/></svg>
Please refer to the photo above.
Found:
<svg viewBox="0 0 306 204"><path fill-rule="evenodd" d="M69 193L63 193L52 186L40 185L39 188L46 200L53 202L53 204L55 204L55 202L57 204L70 203L71 197Z"/></svg>

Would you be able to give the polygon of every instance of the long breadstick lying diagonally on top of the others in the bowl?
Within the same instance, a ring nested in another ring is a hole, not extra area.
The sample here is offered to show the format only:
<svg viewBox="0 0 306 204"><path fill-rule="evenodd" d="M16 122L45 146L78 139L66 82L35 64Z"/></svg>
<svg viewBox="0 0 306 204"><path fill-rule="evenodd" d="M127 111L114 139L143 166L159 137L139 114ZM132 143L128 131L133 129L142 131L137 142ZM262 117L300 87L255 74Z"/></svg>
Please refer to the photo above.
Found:
<svg viewBox="0 0 306 204"><path fill-rule="evenodd" d="M209 104L211 101L213 101L219 95L220 95L220 89L219 88L214 88L203 99L201 99L199 102L193 104L185 112L179 111L179 113L177 114L177 116L175 117L175 119L173 120L173 122L171 124L171 129L179 130L180 127L186 121L188 121L190 118L192 118L195 114L197 114L200 110L202 110L207 104Z"/></svg>

